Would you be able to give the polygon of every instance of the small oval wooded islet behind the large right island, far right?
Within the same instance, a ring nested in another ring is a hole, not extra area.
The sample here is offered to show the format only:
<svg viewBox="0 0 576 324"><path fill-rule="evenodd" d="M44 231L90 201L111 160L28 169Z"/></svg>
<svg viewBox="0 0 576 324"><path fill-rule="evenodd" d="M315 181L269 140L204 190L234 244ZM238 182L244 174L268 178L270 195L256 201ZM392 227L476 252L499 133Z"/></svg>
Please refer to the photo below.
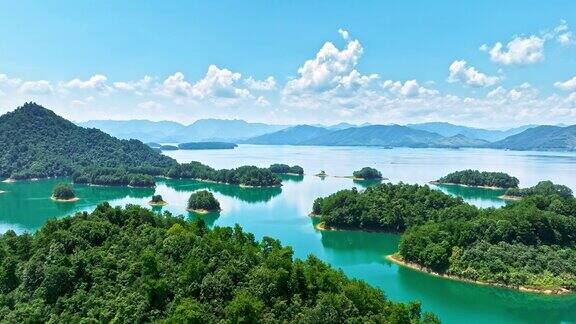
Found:
<svg viewBox="0 0 576 324"><path fill-rule="evenodd" d="M520 181L504 172L464 170L452 172L437 182L476 187L518 188Z"/></svg>

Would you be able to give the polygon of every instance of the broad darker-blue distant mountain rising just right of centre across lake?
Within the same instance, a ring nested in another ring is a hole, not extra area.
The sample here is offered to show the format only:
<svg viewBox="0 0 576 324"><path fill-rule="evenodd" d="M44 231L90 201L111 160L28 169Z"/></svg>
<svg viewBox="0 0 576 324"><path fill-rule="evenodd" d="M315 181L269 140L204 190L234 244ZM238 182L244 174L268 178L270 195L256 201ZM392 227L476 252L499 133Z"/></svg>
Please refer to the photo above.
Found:
<svg viewBox="0 0 576 324"><path fill-rule="evenodd" d="M400 125L371 125L329 132L302 142L304 145L386 146L386 147L470 147L485 141L463 135L445 137L437 133Z"/></svg>

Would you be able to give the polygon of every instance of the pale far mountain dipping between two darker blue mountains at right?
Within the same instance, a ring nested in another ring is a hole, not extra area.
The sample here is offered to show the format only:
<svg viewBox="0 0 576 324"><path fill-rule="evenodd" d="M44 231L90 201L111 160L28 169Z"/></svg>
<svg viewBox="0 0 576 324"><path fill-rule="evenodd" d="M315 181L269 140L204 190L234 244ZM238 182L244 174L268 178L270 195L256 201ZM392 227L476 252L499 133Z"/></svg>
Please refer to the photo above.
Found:
<svg viewBox="0 0 576 324"><path fill-rule="evenodd" d="M512 136L525 131L528 128L536 127L536 125L525 125L521 127L511 128L508 130L492 130L492 129L482 129L467 126L454 125L444 122L432 122L432 123L421 123L421 124L408 124L406 125L410 128L425 130L428 132L438 133L442 136L455 136L464 135L470 139L482 139L489 142L499 141L508 136Z"/></svg>

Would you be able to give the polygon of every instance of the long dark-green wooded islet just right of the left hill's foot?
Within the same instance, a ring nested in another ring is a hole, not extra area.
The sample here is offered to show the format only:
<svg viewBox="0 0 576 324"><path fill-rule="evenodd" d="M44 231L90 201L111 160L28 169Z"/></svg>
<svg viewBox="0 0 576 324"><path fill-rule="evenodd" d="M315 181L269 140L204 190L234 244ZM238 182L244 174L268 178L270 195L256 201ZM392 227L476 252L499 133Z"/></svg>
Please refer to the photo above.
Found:
<svg viewBox="0 0 576 324"><path fill-rule="evenodd" d="M170 178L199 179L251 187L278 186L282 181L269 169L242 166L236 169L215 170L200 162L175 165L166 175Z"/></svg>

